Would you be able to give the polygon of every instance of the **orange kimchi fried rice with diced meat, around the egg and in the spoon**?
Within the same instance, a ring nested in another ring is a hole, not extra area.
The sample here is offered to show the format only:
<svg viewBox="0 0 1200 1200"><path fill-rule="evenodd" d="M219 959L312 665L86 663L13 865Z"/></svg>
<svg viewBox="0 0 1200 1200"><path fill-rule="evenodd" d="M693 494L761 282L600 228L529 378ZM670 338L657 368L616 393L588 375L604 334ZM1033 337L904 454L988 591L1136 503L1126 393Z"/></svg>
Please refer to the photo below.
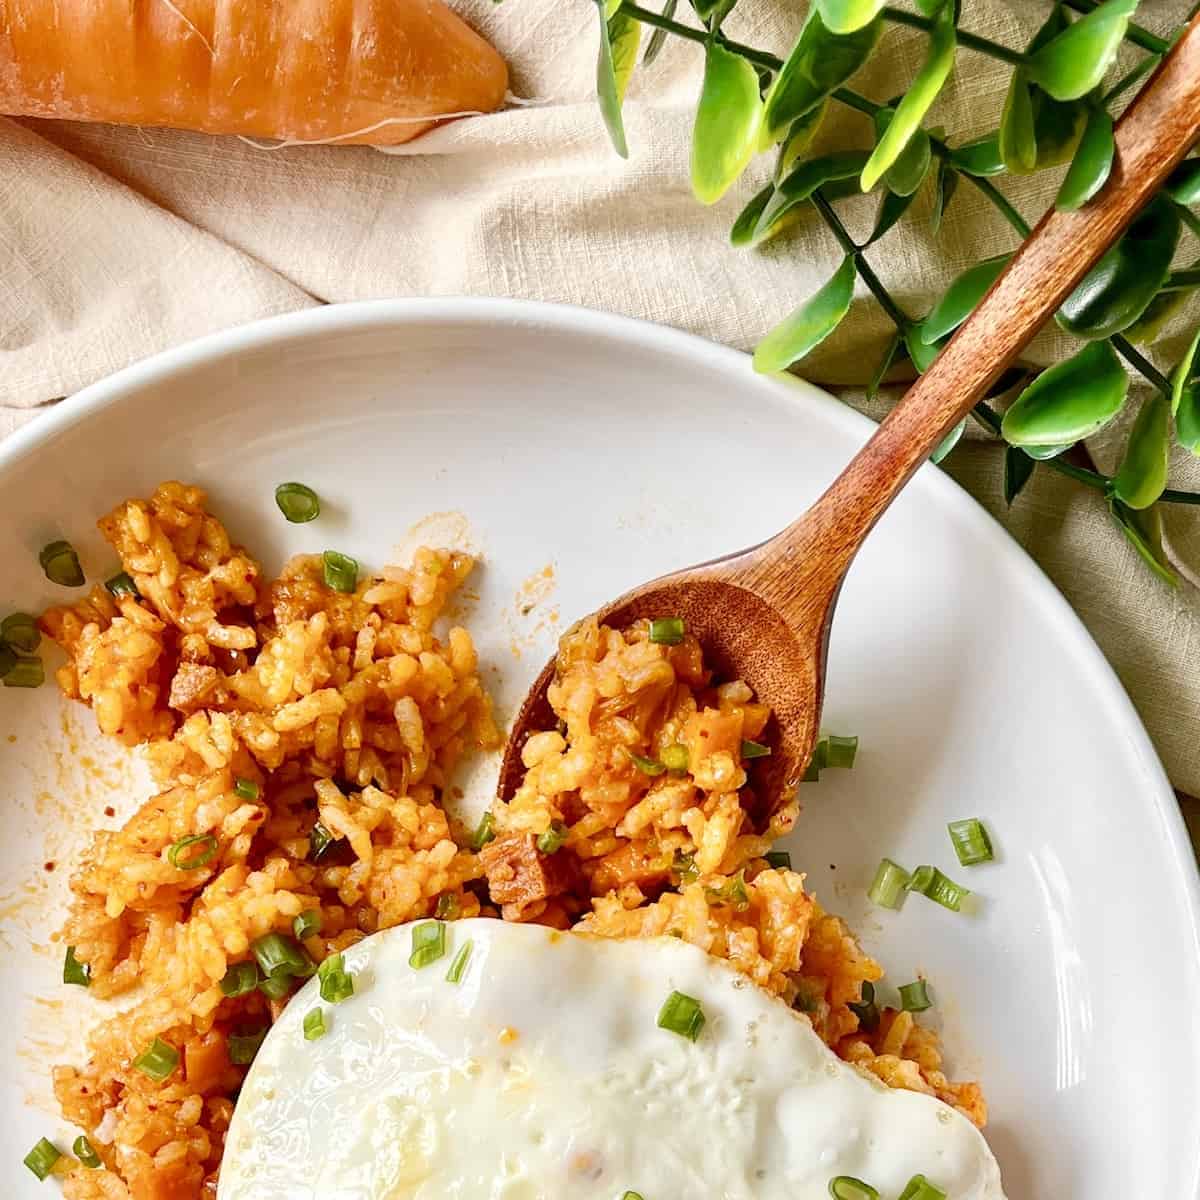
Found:
<svg viewBox="0 0 1200 1200"><path fill-rule="evenodd" d="M59 935L79 982L127 1001L85 1064L54 1070L103 1168L64 1156L68 1200L211 1200L234 1098L288 989L430 916L682 937L793 1004L842 1058L984 1123L932 1031L868 1014L881 967L803 875L768 862L797 816L794 800L766 829L748 816L744 744L769 712L744 683L714 683L685 631L571 630L557 728L526 743L520 790L468 830L444 803L455 764L502 740L472 637L444 617L469 556L422 548L348 582L302 556L266 580L180 482L100 528L132 587L95 587L41 628L66 652L62 691L144 746L161 791L95 835ZM259 977L269 935L290 977Z"/></svg>

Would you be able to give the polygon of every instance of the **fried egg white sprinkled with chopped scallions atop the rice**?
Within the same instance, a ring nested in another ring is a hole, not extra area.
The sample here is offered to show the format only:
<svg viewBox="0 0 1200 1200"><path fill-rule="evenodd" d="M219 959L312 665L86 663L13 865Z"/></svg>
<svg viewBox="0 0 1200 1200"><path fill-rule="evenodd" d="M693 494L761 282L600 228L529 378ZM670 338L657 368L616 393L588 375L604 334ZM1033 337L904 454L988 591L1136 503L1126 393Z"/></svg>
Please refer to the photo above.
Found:
<svg viewBox="0 0 1200 1200"><path fill-rule="evenodd" d="M410 953L412 926L377 934L346 953L350 1000L316 979L292 1000L218 1200L828 1200L836 1175L892 1200L918 1172L1003 1200L970 1121L866 1078L696 947L479 919L448 924L428 966ZM696 1042L656 1024L672 991L703 1008ZM328 1032L306 1042L318 1006Z"/></svg>

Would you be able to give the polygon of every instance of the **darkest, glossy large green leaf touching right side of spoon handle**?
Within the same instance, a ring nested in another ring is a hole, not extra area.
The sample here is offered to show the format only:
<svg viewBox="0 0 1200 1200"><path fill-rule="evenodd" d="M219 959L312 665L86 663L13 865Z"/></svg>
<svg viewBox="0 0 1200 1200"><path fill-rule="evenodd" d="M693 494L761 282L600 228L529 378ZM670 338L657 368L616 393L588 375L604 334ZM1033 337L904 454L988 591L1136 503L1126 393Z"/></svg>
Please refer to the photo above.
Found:
<svg viewBox="0 0 1200 1200"><path fill-rule="evenodd" d="M1076 337L1120 334L1163 286L1178 240L1178 212L1166 197L1156 196L1062 302L1058 324Z"/></svg>

